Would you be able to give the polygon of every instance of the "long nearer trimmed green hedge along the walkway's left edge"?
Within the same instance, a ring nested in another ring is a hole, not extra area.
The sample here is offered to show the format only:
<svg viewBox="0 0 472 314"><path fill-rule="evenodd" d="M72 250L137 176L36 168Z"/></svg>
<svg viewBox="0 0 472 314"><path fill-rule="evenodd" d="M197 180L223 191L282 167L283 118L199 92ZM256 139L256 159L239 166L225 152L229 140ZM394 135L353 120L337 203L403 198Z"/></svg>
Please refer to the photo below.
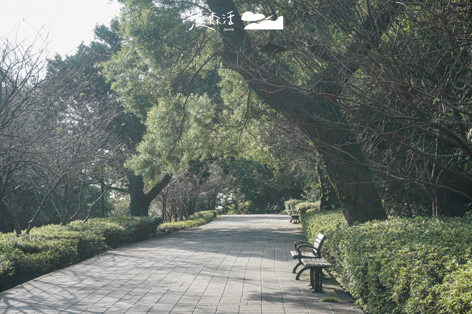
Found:
<svg viewBox="0 0 472 314"><path fill-rule="evenodd" d="M29 235L0 234L0 290L84 261L110 248L156 236L160 218L93 218L82 224L47 225Z"/></svg>

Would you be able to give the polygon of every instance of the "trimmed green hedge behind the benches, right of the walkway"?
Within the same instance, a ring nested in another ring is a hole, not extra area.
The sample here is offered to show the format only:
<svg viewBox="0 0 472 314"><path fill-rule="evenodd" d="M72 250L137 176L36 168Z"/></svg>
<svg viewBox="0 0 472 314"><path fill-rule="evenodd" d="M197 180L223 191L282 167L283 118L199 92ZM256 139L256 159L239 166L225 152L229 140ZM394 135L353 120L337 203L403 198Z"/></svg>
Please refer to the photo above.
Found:
<svg viewBox="0 0 472 314"><path fill-rule="evenodd" d="M302 216L310 240L370 314L472 314L472 219L392 217L348 227L341 211Z"/></svg>

